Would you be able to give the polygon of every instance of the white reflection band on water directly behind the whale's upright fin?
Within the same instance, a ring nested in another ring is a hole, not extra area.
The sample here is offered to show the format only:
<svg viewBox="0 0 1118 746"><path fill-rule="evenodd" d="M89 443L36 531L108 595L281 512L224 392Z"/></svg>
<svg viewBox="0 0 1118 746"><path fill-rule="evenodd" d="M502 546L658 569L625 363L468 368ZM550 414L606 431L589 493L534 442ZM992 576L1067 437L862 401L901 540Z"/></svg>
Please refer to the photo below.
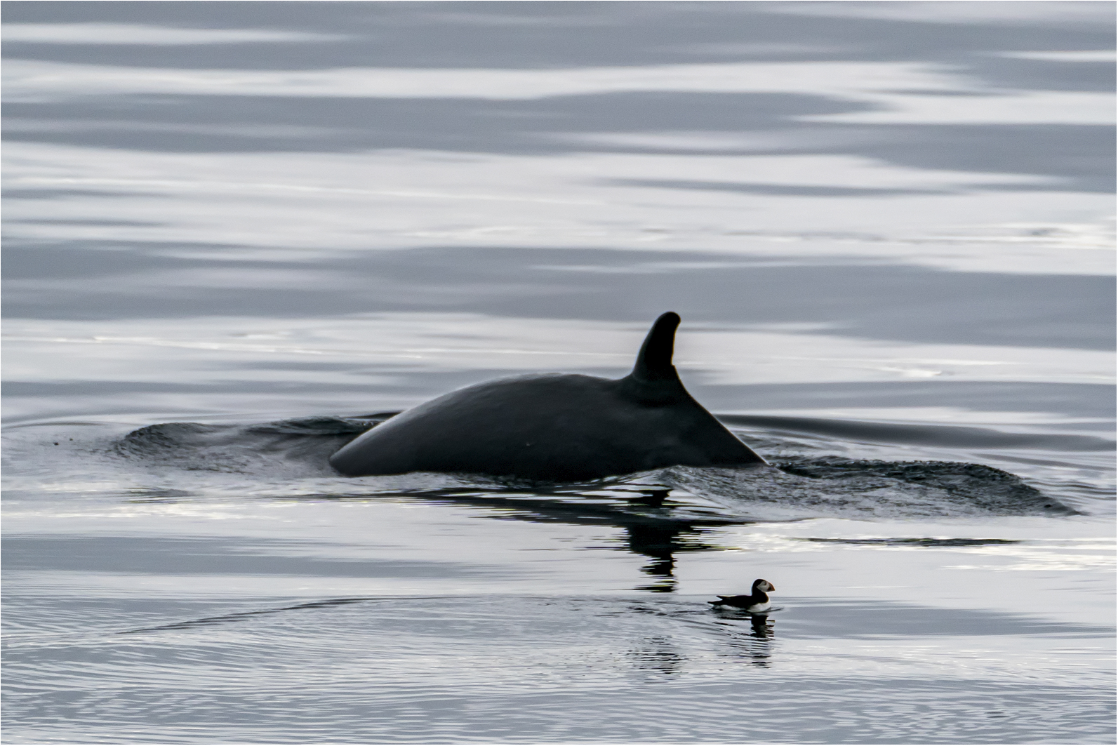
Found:
<svg viewBox="0 0 1118 746"><path fill-rule="evenodd" d="M190 370L199 383L228 377L219 360L236 355L260 363L277 357L329 357L338 361L409 361L415 369L438 370L601 370L632 365L646 332L644 324L613 321L520 319L468 313L375 313L288 319L267 333L276 341L246 341L260 333L260 320L236 317L197 319L117 319L114 333L100 321L20 320L6 323L6 339L19 344L8 375L34 380L164 380L168 370ZM281 341L282 340L282 341ZM80 369L63 365L82 352ZM161 349L138 356L114 347ZM96 353L89 348L102 347ZM12 347L11 349L15 349ZM177 351L181 350L181 352ZM205 353L217 358L212 366ZM151 369L144 374L149 361ZM935 369L955 380L1108 383L1112 355L1105 350L937 344L865 340L841 334L684 328L676 365L703 385L889 381L913 369ZM266 367L266 366L265 366ZM53 372L51 372L53 371ZM245 374L247 375L247 372ZM315 371L322 383L351 374ZM368 374L362 374L362 380ZM151 376L151 378L149 378Z"/></svg>

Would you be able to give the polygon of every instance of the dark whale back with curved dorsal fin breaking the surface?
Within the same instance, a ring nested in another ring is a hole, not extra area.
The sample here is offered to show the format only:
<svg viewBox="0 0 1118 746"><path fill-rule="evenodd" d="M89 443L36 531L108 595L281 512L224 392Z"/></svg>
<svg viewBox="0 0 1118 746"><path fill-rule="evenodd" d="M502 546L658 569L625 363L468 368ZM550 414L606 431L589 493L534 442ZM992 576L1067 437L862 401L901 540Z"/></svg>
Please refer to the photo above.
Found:
<svg viewBox="0 0 1118 746"><path fill-rule="evenodd" d="M680 317L656 319L633 372L610 380L531 374L451 391L396 415L330 457L347 476L443 472L584 482L666 466L764 466L683 387Z"/></svg>

